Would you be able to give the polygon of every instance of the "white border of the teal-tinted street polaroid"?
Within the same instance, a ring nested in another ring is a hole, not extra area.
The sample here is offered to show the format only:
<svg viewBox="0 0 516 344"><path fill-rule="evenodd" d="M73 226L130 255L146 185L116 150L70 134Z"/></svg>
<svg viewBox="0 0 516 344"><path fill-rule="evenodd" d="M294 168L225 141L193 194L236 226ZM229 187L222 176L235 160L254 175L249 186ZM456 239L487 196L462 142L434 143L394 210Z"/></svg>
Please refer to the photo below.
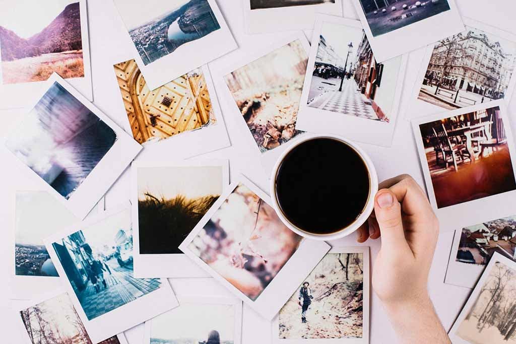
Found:
<svg viewBox="0 0 516 344"><path fill-rule="evenodd" d="M123 211L131 211L131 208L122 206L115 210L104 211L98 216L70 226L66 230L60 231L45 239L46 249L49 251L50 257L59 273L61 284L65 286L66 291L72 299L73 305L79 314L80 320L83 321L86 331L88 331L93 342L99 342L112 337L115 334L122 333L131 329L131 327L134 327L159 314L165 313L167 310L179 305L169 282L166 279L162 279L160 280L161 285L158 289L120 307L112 309L92 320L88 320L88 317L86 316L84 309L80 304L70 281L68 280L66 272L61 265L61 261L52 247L52 243L70 234L90 228L92 225L102 222L111 216L118 215ZM109 326L106 326L106 323L108 323Z"/></svg>

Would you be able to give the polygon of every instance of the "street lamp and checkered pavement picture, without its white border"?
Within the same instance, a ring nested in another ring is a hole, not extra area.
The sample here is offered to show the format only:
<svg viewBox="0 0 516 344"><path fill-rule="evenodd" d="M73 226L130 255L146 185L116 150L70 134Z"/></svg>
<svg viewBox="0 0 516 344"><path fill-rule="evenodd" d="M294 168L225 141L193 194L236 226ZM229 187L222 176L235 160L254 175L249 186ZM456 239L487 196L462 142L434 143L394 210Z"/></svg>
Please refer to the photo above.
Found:
<svg viewBox="0 0 516 344"><path fill-rule="evenodd" d="M307 105L389 122L396 103L401 56L377 63L363 29L322 22ZM307 76L308 77L308 76Z"/></svg>

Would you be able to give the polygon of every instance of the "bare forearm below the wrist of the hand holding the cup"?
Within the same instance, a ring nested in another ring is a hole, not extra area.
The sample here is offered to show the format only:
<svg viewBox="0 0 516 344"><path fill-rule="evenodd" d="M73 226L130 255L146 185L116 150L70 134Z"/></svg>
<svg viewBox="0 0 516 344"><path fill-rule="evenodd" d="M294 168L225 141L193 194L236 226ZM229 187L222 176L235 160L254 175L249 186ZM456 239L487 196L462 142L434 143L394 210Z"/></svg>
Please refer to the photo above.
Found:
<svg viewBox="0 0 516 344"><path fill-rule="evenodd" d="M409 304L385 304L400 343L449 344L450 339L427 294Z"/></svg>

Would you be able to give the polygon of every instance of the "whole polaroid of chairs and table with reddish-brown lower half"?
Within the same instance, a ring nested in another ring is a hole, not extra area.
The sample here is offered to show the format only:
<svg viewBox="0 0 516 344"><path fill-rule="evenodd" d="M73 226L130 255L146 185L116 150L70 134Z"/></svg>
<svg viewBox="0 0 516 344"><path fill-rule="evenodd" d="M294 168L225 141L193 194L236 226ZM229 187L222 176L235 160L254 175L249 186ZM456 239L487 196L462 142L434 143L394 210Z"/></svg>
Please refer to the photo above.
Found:
<svg viewBox="0 0 516 344"><path fill-rule="evenodd" d="M430 204L447 227L514 211L516 159L503 100L417 118L412 127Z"/></svg>

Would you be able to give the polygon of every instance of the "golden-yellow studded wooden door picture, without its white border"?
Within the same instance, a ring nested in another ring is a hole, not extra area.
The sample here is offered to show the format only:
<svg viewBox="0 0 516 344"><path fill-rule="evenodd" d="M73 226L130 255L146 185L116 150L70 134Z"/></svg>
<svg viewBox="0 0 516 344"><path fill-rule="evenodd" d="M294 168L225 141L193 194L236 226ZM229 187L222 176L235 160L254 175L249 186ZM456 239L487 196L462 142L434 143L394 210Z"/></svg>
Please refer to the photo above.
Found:
<svg viewBox="0 0 516 344"><path fill-rule="evenodd" d="M150 90L135 60L114 65L133 137L161 141L217 122L201 68Z"/></svg>

